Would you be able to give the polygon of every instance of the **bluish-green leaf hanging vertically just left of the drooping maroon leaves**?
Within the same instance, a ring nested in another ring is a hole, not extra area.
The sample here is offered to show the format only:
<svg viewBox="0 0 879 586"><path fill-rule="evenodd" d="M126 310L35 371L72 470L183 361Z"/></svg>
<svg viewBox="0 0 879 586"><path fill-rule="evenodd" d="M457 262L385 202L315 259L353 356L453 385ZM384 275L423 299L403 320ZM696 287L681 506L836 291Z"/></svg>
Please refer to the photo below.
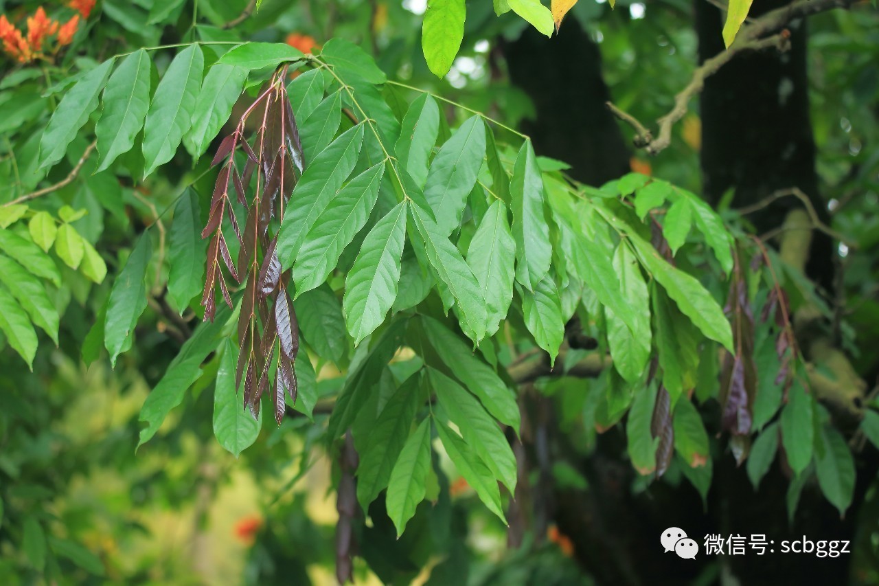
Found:
<svg viewBox="0 0 879 586"><path fill-rule="evenodd" d="M204 285L207 244L200 238L200 232L199 195L192 187L187 187L174 208L168 252L168 294L180 313Z"/></svg>

